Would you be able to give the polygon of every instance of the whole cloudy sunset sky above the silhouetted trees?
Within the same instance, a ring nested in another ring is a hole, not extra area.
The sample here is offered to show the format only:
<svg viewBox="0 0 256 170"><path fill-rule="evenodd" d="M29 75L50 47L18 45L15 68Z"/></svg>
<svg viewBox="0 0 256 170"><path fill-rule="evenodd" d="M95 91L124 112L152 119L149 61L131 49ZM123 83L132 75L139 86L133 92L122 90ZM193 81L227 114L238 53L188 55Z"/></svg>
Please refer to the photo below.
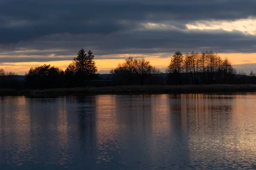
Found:
<svg viewBox="0 0 256 170"><path fill-rule="evenodd" d="M0 68L67 68L84 48L99 73L127 57L165 71L175 51L217 52L256 73L255 0L0 0Z"/></svg>

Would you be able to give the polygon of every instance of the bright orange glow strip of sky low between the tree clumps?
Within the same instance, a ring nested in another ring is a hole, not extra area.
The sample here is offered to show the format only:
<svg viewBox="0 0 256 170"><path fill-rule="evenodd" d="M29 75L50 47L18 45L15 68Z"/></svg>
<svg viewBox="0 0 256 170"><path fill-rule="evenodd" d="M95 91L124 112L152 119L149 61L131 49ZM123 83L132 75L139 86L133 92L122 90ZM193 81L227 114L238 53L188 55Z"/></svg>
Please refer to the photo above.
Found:
<svg viewBox="0 0 256 170"><path fill-rule="evenodd" d="M171 56L172 54L170 54ZM118 59L118 57L122 57L121 59ZM117 59L97 59L97 55L95 55L95 62L96 66L98 67L99 73L108 73L108 71L111 68L115 68L116 65L120 62L124 61L124 58L126 56L133 56L132 54L122 54L120 56L116 56ZM140 54L136 54L134 56L140 56ZM160 57L150 57L145 56L145 59L149 60L151 62L151 65L156 66L157 68L160 68L161 71L165 72L165 68L170 62L170 57L166 58L160 58ZM157 55L154 55L157 56ZM239 65L239 64L250 64L250 63L256 63L256 53L251 54L241 54L241 53L234 53L234 54L220 54L220 56L224 58L230 59L233 65ZM16 63L3 63L4 65L0 65L0 68L5 69L5 71L14 71L18 75L24 75L26 72L29 71L29 68L36 67L38 65L44 65L44 64L50 64L54 65L56 67L62 68L65 70L71 60L65 60L65 61L51 61L51 62L16 62ZM255 70L256 71L256 70Z"/></svg>

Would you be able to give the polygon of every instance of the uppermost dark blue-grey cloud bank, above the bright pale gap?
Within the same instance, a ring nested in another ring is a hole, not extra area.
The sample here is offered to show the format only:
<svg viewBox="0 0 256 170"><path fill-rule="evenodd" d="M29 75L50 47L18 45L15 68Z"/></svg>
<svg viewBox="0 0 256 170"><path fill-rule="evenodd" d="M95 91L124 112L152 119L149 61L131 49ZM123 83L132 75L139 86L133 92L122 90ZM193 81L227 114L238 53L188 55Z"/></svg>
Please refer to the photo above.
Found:
<svg viewBox="0 0 256 170"><path fill-rule="evenodd" d="M56 33L110 34L141 22L185 23L255 16L254 0L4 0L0 6L0 42L17 42ZM125 24L126 23L126 24ZM128 23L128 24L127 24Z"/></svg>

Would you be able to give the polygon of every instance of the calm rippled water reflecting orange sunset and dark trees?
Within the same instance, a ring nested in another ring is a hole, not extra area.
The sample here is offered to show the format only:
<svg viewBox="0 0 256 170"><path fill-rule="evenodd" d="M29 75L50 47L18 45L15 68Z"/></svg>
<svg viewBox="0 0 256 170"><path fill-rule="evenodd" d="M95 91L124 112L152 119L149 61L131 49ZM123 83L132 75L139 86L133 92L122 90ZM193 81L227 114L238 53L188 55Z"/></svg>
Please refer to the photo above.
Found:
<svg viewBox="0 0 256 170"><path fill-rule="evenodd" d="M0 97L0 170L256 169L256 94Z"/></svg>

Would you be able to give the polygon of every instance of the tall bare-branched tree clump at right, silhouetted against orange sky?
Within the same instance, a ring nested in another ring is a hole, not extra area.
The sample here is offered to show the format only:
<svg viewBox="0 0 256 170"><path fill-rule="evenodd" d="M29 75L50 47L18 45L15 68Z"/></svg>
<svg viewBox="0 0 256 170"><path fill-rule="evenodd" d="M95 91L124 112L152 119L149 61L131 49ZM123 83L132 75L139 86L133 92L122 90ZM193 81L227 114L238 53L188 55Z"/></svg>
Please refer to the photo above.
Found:
<svg viewBox="0 0 256 170"><path fill-rule="evenodd" d="M212 84L232 81L236 70L231 62L217 53L192 51L190 54L175 52L166 69L173 84Z"/></svg>

